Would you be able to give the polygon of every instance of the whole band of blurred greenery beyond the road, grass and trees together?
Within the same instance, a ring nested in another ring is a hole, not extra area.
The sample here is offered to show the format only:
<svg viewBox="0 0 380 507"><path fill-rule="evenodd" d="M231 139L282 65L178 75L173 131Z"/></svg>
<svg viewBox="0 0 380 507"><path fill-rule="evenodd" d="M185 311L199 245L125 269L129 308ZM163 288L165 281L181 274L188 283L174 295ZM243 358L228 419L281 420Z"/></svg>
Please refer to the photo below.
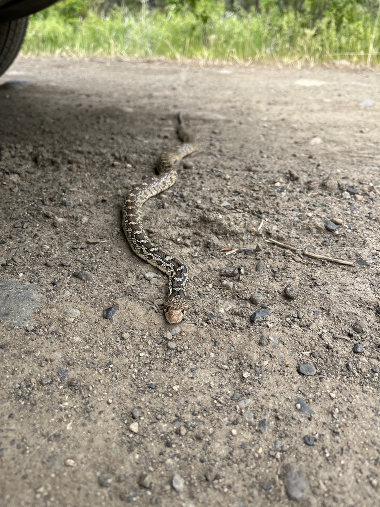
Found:
<svg viewBox="0 0 380 507"><path fill-rule="evenodd" d="M24 54L380 62L378 0L66 0L30 19Z"/></svg>

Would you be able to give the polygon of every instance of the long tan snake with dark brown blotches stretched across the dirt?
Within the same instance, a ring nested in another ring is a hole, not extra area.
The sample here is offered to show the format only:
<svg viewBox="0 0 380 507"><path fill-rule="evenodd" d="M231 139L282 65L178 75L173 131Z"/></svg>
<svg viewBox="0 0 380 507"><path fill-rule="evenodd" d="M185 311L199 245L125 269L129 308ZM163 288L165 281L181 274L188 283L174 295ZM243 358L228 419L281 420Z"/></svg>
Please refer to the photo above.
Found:
<svg viewBox="0 0 380 507"><path fill-rule="evenodd" d="M132 250L144 261L160 269L169 277L168 297L164 303L166 320L176 324L183 319L187 310L185 286L187 282L187 268L169 253L155 246L147 237L141 221L141 208L149 197L174 185L177 179L177 169L174 163L195 151L195 140L184 127L181 114L178 115L177 134L182 144L176 150L170 150L160 155L156 162L159 176L149 179L135 187L128 194L123 205L123 229Z"/></svg>

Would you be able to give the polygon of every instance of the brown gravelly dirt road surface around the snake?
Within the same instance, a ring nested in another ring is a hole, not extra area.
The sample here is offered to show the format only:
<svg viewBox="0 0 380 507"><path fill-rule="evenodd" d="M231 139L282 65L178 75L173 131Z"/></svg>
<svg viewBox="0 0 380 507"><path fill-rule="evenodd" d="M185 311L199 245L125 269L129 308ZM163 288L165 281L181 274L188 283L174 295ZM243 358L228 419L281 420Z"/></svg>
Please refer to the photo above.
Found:
<svg viewBox="0 0 380 507"><path fill-rule="evenodd" d="M379 77L19 58L1 78L2 505L378 505ZM121 208L178 111L198 150L144 205L189 269L170 325Z"/></svg>

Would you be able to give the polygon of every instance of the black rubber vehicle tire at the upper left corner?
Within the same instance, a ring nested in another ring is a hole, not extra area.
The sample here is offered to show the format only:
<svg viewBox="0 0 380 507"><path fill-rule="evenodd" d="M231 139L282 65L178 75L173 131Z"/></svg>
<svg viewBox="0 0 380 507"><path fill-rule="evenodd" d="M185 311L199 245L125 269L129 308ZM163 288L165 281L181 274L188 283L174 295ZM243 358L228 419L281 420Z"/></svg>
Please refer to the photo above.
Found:
<svg viewBox="0 0 380 507"><path fill-rule="evenodd" d="M5 73L20 51L27 27L28 18L0 23L0 76Z"/></svg>

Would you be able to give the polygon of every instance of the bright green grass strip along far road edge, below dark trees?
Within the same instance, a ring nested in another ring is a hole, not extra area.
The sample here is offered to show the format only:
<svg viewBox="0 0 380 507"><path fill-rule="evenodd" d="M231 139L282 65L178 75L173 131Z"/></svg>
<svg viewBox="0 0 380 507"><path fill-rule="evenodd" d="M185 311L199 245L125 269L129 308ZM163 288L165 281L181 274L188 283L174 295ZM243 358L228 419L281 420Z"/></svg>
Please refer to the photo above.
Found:
<svg viewBox="0 0 380 507"><path fill-rule="evenodd" d="M380 12L380 9L379 9ZM91 11L75 23L50 8L30 18L25 55L193 58L200 61L296 63L341 60L355 65L380 63L377 20L364 9L357 20L323 17L314 25L293 10L262 14L211 14L202 23L194 12L158 10L131 14L116 9L107 17Z"/></svg>

